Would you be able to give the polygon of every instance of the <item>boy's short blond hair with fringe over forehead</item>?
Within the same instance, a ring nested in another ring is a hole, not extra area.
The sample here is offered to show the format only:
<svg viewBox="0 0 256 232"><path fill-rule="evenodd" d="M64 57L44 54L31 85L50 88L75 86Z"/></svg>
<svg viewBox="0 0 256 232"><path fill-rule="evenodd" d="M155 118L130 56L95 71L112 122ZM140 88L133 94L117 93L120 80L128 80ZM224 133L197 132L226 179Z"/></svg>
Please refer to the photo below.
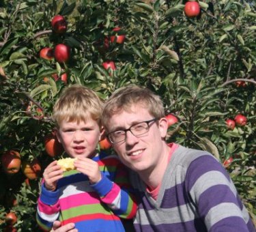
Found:
<svg viewBox="0 0 256 232"><path fill-rule="evenodd" d="M72 85L66 88L53 107L53 119L56 126L65 121L87 121L91 118L100 123L103 102L96 93L82 85Z"/></svg>

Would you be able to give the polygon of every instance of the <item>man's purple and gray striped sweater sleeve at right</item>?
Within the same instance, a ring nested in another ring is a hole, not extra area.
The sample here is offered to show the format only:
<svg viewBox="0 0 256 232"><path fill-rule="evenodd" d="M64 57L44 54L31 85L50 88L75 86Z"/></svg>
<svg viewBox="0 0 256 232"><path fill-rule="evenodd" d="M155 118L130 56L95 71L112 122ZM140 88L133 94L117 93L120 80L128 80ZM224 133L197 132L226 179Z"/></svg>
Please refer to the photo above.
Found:
<svg viewBox="0 0 256 232"><path fill-rule="evenodd" d="M185 185L208 231L253 231L236 187L214 156L193 160L188 166Z"/></svg>

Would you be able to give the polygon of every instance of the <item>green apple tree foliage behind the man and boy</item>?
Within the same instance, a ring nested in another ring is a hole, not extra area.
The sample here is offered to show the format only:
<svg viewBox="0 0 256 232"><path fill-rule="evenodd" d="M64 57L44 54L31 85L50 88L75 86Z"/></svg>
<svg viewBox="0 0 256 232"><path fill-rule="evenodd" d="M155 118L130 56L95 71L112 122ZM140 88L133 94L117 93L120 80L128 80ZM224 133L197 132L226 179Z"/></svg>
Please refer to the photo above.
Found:
<svg viewBox="0 0 256 232"><path fill-rule="evenodd" d="M42 170L53 160L44 150L44 136L53 130L52 107L66 85L52 74L66 72L67 85L81 83L103 99L136 83L159 94L166 113L178 117L168 141L210 151L220 162L233 158L227 171L255 220L256 5L199 1L201 14L187 18L185 2L1 0L0 154L14 149L22 160L36 157ZM68 21L63 35L51 31L56 14ZM117 26L126 34L124 44L105 48L104 38ZM72 48L68 63L40 59L41 48L59 43ZM112 74L102 68L107 60L117 66ZM238 87L239 80L246 86ZM227 130L225 119L238 113L247 117L246 126ZM0 171L0 229L6 227L5 214L15 212L18 231L38 230L40 178L26 184L22 171L11 176ZM14 198L16 205L7 201Z"/></svg>

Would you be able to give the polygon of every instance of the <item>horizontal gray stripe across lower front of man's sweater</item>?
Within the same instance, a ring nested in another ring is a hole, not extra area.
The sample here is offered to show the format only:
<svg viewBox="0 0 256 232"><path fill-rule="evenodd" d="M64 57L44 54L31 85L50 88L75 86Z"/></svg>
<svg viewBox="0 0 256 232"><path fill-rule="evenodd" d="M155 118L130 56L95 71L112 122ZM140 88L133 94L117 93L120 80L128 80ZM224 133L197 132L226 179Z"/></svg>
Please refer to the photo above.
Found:
<svg viewBox="0 0 256 232"><path fill-rule="evenodd" d="M139 220L138 220L139 219ZM151 209L146 212L143 209L137 211L134 223L139 224L173 224L187 222L195 219L195 212L188 205L173 207L171 209ZM171 221L170 221L171 220Z"/></svg>

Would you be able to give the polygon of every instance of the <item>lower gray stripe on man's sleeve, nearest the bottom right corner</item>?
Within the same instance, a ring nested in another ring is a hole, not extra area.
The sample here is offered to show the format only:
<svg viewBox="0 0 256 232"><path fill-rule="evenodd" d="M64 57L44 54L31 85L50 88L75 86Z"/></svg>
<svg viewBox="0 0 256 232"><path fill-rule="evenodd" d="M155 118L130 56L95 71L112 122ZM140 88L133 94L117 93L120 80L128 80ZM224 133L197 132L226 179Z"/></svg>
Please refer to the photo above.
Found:
<svg viewBox="0 0 256 232"><path fill-rule="evenodd" d="M241 210L238 205L233 203L221 203L215 207L212 207L208 214L206 214L205 225L208 231L210 231L210 227L212 225L216 224L220 220L223 220L224 218L229 218L232 216L238 216L242 218Z"/></svg>

